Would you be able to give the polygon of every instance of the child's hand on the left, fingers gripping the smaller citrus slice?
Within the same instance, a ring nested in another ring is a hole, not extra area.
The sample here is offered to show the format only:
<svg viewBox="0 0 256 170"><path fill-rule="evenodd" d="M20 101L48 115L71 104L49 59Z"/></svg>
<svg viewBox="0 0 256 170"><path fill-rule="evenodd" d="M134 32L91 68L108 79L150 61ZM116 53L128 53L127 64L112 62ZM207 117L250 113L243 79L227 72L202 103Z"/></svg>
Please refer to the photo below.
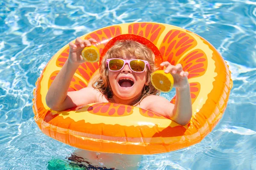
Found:
<svg viewBox="0 0 256 170"><path fill-rule="evenodd" d="M82 40L80 37L76 38L76 42L70 42L70 54L68 57L69 62L73 64L81 64L84 62L81 52L85 47L90 47L93 42L97 42L95 39L90 38L89 40Z"/></svg>

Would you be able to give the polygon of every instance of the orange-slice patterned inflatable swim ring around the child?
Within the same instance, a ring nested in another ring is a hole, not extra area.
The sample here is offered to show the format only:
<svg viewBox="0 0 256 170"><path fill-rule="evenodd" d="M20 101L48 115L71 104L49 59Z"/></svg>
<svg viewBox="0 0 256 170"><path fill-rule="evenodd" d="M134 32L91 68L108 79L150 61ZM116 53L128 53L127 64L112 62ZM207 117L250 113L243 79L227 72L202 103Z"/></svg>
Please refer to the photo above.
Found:
<svg viewBox="0 0 256 170"><path fill-rule="evenodd" d="M46 94L69 55L65 45L50 59L34 90L35 122L43 133L84 150L123 154L156 154L179 150L200 142L218 124L226 109L233 82L218 51L197 34L162 23L124 23L82 36L94 38L100 54L109 40L120 34L137 34L154 43L163 61L180 63L189 72L193 116L181 126L141 108L93 103L67 111L52 111ZM87 87L99 62L79 66L69 91ZM175 103L175 97L171 100Z"/></svg>

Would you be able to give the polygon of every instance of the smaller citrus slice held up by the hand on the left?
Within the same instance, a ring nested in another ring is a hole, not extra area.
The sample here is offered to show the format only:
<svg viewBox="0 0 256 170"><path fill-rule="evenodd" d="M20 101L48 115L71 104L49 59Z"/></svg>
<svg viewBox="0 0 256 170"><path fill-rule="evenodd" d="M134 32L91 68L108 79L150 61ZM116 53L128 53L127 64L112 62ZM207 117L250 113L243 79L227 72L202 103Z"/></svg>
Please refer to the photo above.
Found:
<svg viewBox="0 0 256 170"><path fill-rule="evenodd" d="M85 47L82 51L82 57L86 62L99 61L99 49L95 46Z"/></svg>

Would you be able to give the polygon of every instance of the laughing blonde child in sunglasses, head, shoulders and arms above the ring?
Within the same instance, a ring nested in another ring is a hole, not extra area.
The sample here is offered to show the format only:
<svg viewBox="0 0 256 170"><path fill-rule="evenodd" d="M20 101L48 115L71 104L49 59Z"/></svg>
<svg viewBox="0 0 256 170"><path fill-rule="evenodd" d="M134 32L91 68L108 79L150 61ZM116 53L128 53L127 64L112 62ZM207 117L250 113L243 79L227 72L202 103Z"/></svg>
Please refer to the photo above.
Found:
<svg viewBox="0 0 256 170"><path fill-rule="evenodd" d="M156 70L154 53L147 46L134 40L116 42L108 50L102 59L100 74L93 82L93 87L68 92L76 69L84 62L81 51L92 43L96 43L96 40L81 40L79 37L75 43L69 43L69 57L46 96L49 108L63 111L95 102L113 102L134 105L158 113L180 125L189 122L192 117L192 103L188 72L184 72L180 64L174 66L169 62L162 62L161 66L165 66L165 73L171 73L174 78L175 105L164 97L157 96L158 91L150 82L150 74ZM131 62L132 59L136 60ZM133 62L138 62L141 67L134 68Z"/></svg>

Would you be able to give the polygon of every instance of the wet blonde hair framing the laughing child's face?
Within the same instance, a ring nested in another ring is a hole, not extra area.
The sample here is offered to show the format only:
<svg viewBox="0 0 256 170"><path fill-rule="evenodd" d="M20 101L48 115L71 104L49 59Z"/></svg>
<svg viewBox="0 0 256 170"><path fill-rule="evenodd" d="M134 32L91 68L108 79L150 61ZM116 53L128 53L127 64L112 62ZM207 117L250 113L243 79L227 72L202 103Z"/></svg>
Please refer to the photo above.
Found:
<svg viewBox="0 0 256 170"><path fill-rule="evenodd" d="M93 79L92 86L96 90L99 90L102 94L108 96L108 99L112 99L113 92L111 90L111 86L108 79L108 68L106 66L107 59L111 58L119 58L120 56L133 56L136 59L143 59L148 61L150 65L150 69L147 72L147 84L144 85L142 94L140 98L135 99L129 105L138 105L140 102L148 95L156 95L159 94L154 86L151 84L150 75L154 71L156 71L156 67L154 65L154 53L145 45L140 44L139 42L132 40L122 40L116 42L108 52L102 58L102 64L99 68L99 75ZM148 67L146 67L148 68Z"/></svg>

